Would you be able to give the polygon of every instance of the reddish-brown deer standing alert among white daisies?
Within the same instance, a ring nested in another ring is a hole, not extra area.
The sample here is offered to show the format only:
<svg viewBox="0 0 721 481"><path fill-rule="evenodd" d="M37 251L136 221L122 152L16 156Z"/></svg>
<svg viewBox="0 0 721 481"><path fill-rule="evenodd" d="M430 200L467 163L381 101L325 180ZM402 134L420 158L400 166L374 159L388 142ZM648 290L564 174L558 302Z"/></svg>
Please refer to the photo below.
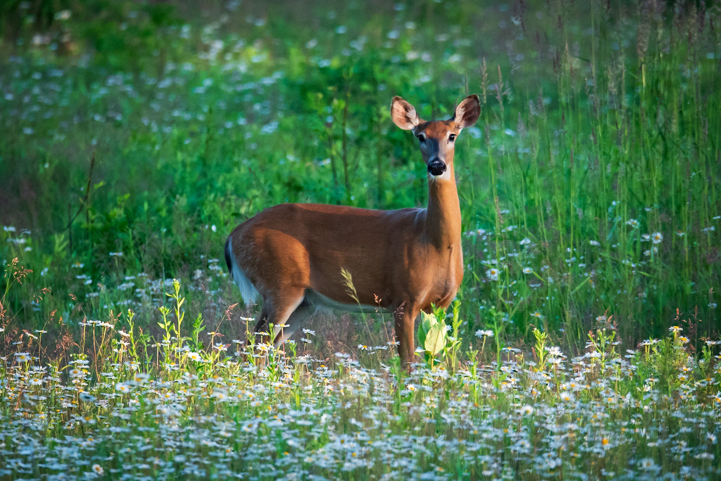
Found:
<svg viewBox="0 0 721 481"><path fill-rule="evenodd" d="M262 297L255 333L262 333L264 342L272 336L280 347L321 308L380 307L393 313L398 355L411 370L417 316L432 306L446 308L463 280L454 147L461 129L473 126L479 115L477 95L464 98L448 120L436 121L423 121L410 103L393 97L391 118L412 131L426 165L425 208L278 204L232 231L226 264L247 306Z"/></svg>

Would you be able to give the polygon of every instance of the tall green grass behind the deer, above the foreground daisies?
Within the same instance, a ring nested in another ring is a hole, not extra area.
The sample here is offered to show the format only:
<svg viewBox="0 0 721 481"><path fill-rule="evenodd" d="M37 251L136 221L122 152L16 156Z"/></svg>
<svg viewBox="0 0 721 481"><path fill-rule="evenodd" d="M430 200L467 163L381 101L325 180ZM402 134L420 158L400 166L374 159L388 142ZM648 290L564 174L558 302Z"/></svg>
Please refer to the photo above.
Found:
<svg viewBox="0 0 721 481"><path fill-rule="evenodd" d="M616 326L634 347L678 309L700 346L718 331L717 9L582 3L89 4L7 30L0 248L33 272L6 329L132 307L153 330L171 277L218 324L237 296L208 273L234 225L278 202L423 205L389 98L436 118L480 92L456 162L466 337L580 348Z"/></svg>

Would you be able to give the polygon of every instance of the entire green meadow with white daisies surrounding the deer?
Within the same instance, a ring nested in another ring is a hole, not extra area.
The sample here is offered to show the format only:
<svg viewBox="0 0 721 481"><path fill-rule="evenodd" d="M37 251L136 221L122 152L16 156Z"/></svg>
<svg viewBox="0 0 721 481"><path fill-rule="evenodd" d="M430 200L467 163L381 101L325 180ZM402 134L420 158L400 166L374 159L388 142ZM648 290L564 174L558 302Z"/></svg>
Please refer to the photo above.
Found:
<svg viewBox="0 0 721 481"><path fill-rule="evenodd" d="M0 479L721 477L720 20L0 6ZM405 373L383 312L254 342L230 231L280 202L423 206L390 100L448 118L469 93L440 344L421 322Z"/></svg>

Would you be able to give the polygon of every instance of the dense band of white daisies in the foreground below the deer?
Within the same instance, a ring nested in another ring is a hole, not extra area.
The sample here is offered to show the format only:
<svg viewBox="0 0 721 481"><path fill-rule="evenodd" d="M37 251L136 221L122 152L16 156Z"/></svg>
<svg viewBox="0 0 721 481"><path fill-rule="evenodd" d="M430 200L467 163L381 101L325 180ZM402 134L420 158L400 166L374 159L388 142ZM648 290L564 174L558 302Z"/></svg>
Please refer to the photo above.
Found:
<svg viewBox="0 0 721 481"><path fill-rule="evenodd" d="M80 323L76 351L89 355L0 358L0 476L721 476L719 342L708 340L690 355L681 326L639 350L622 350L614 330L599 329L589 333L583 354L570 358L536 330L531 352L505 348L487 365L470 352L459 364L439 358L407 375L387 345L324 360L299 353L293 341L277 351L239 339L203 348L200 326L183 330L181 290L176 281L167 293L181 321L167 324L154 345L138 339L128 311L123 329ZM43 334L27 332L15 344L40 347ZM312 343L315 334L304 329L300 343ZM493 335L476 334L484 348Z"/></svg>

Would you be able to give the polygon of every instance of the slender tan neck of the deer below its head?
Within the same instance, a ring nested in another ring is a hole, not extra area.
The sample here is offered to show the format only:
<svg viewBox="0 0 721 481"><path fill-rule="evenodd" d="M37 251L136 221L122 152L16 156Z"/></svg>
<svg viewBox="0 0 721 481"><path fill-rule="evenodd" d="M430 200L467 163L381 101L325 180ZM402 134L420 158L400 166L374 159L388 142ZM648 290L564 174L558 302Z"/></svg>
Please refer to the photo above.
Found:
<svg viewBox="0 0 721 481"><path fill-rule="evenodd" d="M461 242L461 205L452 162L447 174L441 180L428 179L425 234L428 242L439 249Z"/></svg>

